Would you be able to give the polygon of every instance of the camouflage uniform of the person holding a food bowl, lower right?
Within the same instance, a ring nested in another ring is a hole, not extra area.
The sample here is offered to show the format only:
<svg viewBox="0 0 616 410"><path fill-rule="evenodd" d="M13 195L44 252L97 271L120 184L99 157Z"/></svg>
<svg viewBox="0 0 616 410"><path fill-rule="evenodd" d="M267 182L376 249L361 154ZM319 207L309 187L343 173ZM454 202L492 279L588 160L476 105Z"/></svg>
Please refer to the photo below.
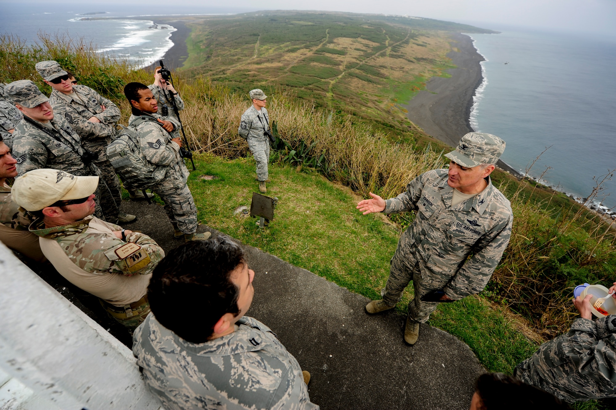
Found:
<svg viewBox="0 0 616 410"><path fill-rule="evenodd" d="M514 376L569 402L616 397L616 315L577 318L569 332L518 364Z"/></svg>

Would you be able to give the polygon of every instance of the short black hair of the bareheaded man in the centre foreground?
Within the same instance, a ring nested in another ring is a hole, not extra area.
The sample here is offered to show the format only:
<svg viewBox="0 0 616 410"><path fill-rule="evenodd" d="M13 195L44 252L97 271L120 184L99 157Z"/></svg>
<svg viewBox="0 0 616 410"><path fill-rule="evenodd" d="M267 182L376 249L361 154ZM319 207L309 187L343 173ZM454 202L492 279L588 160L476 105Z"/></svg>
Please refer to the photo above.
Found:
<svg viewBox="0 0 616 410"><path fill-rule="evenodd" d="M226 235L169 251L148 286L156 320L188 342L206 342L225 313L240 313L240 290L230 277L240 263L245 263L244 251Z"/></svg>

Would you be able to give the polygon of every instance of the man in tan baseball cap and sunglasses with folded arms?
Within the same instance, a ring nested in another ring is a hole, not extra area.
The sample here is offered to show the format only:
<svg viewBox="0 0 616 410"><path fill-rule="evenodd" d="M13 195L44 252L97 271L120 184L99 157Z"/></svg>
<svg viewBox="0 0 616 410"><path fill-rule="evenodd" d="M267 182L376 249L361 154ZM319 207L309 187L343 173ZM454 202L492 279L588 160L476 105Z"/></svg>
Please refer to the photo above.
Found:
<svg viewBox="0 0 616 410"><path fill-rule="evenodd" d="M38 217L30 231L40 237L43 254L60 275L135 328L150 312L146 290L164 251L147 235L92 217L98 183L97 176L34 169L18 177L11 192Z"/></svg>

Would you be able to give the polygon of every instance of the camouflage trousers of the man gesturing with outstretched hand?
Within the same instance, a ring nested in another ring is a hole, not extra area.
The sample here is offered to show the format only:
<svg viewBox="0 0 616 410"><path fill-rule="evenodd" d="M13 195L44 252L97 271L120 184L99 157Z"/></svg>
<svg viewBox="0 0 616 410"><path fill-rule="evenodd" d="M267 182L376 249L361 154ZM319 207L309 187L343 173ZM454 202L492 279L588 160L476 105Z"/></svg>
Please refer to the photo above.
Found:
<svg viewBox="0 0 616 410"><path fill-rule="evenodd" d="M383 301L390 306L398 303L405 287L413 279L415 297L408 302L408 319L417 323L426 323L439 303L423 302L421 297L428 292L443 289L449 280L434 278L434 275L424 267L423 262L419 262L421 257L416 256L415 252L408 248L405 250L401 243L402 240L398 243L391 259Z"/></svg>

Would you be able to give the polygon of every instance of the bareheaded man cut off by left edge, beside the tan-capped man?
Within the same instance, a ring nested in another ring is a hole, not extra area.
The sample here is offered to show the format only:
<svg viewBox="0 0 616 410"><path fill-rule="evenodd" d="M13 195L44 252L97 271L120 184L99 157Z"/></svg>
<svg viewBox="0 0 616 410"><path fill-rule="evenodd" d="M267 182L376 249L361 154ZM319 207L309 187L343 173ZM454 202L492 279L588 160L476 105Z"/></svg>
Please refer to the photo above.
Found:
<svg viewBox="0 0 616 410"><path fill-rule="evenodd" d="M6 185L7 178L17 176L15 164L17 159L10 155L9 147L4 145L0 136L0 241L36 262L43 262L45 255L41 252L38 236L28 231L32 222L30 215L19 210L9 185Z"/></svg>

